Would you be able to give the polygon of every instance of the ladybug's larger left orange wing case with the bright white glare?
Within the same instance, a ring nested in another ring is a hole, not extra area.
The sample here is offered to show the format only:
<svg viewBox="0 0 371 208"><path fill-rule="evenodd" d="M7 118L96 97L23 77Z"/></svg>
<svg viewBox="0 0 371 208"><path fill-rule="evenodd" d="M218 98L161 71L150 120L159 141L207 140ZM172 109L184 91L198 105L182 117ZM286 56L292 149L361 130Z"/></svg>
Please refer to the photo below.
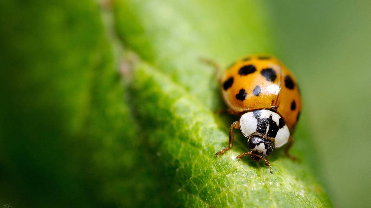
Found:
<svg viewBox="0 0 371 208"><path fill-rule="evenodd" d="M236 113L270 109L280 87L280 66L276 58L249 57L237 61L221 77L221 94Z"/></svg>

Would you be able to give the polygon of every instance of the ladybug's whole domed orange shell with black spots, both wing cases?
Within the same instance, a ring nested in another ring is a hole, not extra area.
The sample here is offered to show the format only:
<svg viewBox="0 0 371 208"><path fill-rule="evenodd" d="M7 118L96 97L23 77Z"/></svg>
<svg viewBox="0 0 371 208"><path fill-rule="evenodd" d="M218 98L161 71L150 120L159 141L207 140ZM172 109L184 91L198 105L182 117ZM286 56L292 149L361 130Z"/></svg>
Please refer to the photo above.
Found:
<svg viewBox="0 0 371 208"><path fill-rule="evenodd" d="M224 71L221 94L234 113L272 109L290 131L295 127L302 103L296 79L277 58L250 56Z"/></svg>

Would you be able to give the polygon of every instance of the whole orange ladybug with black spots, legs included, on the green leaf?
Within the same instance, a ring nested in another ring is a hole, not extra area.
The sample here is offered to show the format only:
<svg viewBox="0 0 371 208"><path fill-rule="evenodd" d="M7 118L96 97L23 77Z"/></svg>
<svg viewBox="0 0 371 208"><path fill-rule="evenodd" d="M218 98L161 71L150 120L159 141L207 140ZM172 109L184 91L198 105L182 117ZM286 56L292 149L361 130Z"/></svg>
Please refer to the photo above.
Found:
<svg viewBox="0 0 371 208"><path fill-rule="evenodd" d="M233 129L240 129L247 137L253 161L265 161L266 155L286 143L285 154L293 144L292 134L302 108L301 96L293 74L272 56L247 56L237 60L219 79L220 90L228 112L239 115L229 130L229 146L215 155L223 155L233 146Z"/></svg>

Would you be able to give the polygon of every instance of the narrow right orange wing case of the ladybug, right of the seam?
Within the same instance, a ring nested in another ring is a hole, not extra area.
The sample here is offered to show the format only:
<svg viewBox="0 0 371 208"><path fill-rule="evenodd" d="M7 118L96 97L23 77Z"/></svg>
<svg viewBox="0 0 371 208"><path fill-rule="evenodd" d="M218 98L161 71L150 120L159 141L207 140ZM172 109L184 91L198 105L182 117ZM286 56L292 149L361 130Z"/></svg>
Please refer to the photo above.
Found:
<svg viewBox="0 0 371 208"><path fill-rule="evenodd" d="M301 96L295 77L281 64L281 86L277 99L277 113L286 121L290 131L293 131L299 119L302 108Z"/></svg>

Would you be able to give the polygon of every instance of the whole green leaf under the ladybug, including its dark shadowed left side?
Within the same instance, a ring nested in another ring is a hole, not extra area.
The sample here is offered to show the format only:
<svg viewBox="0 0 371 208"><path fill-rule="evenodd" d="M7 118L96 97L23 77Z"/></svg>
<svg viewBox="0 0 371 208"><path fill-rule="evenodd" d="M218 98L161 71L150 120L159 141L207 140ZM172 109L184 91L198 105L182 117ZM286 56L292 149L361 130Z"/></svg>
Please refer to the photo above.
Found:
<svg viewBox="0 0 371 208"><path fill-rule="evenodd" d="M213 114L225 106L213 69L198 58L226 66L271 52L263 5L116 1L114 9L125 47L143 60L129 90L95 1L1 1L4 204L331 206L306 165L316 160L302 137L293 152L303 163L275 151L273 175L234 159L246 151L237 131L233 149L213 156L237 118Z"/></svg>

